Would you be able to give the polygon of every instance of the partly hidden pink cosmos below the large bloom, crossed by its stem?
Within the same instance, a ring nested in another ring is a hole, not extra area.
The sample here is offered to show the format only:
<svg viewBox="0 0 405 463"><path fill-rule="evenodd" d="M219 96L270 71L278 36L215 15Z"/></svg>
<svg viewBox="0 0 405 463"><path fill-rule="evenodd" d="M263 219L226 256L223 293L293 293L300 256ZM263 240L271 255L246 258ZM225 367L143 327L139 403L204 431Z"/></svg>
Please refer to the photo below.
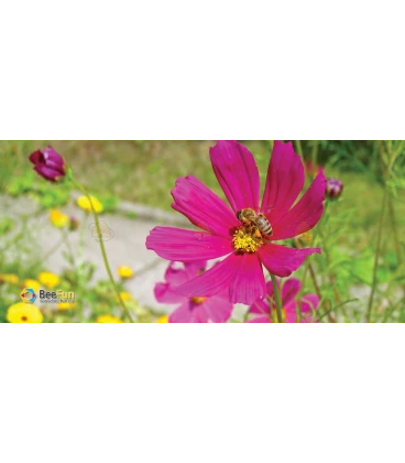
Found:
<svg viewBox="0 0 405 463"><path fill-rule="evenodd" d="M277 279L277 286L280 288L280 280ZM282 304L283 304L283 322L285 324L296 324L297 323L297 295L300 291L302 282L296 278L289 278L286 280L282 288ZM249 313L258 314L252 320L249 320L247 323L253 325L267 325L271 323L277 322L277 311L274 302L274 291L273 284L271 281L266 284L267 288L267 298L258 299L249 308ZM300 313L302 321L300 323L311 323L313 311L317 310L319 305L319 298L317 294L305 294L302 298Z"/></svg>

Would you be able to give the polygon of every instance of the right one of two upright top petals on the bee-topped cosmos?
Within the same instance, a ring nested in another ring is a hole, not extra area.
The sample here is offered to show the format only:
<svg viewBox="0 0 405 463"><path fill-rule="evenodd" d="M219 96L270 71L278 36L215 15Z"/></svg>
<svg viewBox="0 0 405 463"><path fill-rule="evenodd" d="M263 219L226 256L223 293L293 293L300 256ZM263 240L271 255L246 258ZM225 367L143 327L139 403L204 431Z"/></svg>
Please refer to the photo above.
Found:
<svg viewBox="0 0 405 463"><path fill-rule="evenodd" d="M289 211L303 190L304 181L304 165L294 152L293 143L274 140L261 207L272 224Z"/></svg>

